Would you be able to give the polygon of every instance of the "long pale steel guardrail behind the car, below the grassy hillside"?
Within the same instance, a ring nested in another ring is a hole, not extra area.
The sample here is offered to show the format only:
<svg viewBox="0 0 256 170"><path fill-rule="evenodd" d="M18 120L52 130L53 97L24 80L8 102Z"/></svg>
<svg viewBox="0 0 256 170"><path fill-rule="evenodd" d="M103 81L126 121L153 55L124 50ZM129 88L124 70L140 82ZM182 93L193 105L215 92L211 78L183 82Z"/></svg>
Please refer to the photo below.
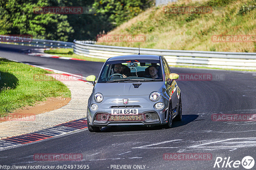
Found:
<svg viewBox="0 0 256 170"><path fill-rule="evenodd" d="M74 40L74 53L108 59L118 55L138 54L139 48L103 46ZM231 69L256 69L256 53L186 51L140 48L140 54L163 55L171 66L201 66Z"/></svg>

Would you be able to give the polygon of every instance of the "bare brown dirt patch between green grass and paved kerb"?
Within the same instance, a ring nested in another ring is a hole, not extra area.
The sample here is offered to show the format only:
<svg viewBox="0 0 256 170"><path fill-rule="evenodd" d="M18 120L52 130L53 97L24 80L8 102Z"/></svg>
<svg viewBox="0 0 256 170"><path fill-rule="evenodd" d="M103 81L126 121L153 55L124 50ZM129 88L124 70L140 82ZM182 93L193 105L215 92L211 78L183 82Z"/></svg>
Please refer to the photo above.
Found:
<svg viewBox="0 0 256 170"><path fill-rule="evenodd" d="M10 120L30 120L35 119L35 115L45 113L48 111L56 110L68 104L71 98L62 97L50 97L44 102L36 103L35 106L27 106L21 109L15 110L6 117L0 118L0 122Z"/></svg>

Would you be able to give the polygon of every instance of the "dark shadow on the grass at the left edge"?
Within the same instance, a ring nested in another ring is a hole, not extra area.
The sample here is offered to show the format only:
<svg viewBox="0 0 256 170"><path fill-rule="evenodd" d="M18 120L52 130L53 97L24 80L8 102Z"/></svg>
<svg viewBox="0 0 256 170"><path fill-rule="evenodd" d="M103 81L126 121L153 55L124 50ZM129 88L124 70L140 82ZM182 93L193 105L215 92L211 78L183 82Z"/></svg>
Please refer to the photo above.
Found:
<svg viewBox="0 0 256 170"><path fill-rule="evenodd" d="M15 89L19 84L19 79L13 74L0 71L0 93L7 89Z"/></svg>

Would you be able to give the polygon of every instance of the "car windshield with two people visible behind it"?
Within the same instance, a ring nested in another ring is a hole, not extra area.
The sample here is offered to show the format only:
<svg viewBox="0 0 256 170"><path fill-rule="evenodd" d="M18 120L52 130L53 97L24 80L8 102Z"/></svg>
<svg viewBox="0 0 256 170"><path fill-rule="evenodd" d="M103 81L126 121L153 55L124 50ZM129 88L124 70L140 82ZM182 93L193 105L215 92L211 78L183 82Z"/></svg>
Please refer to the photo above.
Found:
<svg viewBox="0 0 256 170"><path fill-rule="evenodd" d="M159 60L117 60L105 63L98 83L161 80Z"/></svg>

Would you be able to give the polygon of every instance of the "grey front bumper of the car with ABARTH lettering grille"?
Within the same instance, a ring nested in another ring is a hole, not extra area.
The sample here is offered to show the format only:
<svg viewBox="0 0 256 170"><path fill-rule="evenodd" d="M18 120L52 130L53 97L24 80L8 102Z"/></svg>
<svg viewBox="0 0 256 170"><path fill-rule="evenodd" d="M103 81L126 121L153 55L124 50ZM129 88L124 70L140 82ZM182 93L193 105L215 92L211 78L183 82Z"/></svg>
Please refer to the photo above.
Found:
<svg viewBox="0 0 256 170"><path fill-rule="evenodd" d="M124 98L134 103L118 103ZM114 101L114 102L113 102ZM157 110L154 105L158 102L164 103L164 108ZM98 105L98 110L91 110L92 104ZM90 119L92 126L113 126L113 125L158 125L167 123L167 111L169 102L159 99L156 102L149 100L148 96L104 96L101 103L96 103L93 96L89 98L87 119ZM115 108L138 109L138 115L111 115L111 110Z"/></svg>

